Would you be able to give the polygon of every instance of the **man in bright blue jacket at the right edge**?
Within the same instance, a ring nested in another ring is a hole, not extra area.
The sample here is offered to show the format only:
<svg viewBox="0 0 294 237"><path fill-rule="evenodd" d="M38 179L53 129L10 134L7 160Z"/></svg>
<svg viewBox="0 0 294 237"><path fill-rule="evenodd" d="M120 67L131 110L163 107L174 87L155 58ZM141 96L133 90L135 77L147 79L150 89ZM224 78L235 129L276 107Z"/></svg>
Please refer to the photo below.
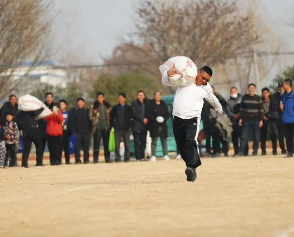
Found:
<svg viewBox="0 0 294 237"><path fill-rule="evenodd" d="M287 143L286 158L293 157L294 151L294 91L293 82L291 79L285 79L283 87L285 92L282 96L280 109L283 111L282 121Z"/></svg>

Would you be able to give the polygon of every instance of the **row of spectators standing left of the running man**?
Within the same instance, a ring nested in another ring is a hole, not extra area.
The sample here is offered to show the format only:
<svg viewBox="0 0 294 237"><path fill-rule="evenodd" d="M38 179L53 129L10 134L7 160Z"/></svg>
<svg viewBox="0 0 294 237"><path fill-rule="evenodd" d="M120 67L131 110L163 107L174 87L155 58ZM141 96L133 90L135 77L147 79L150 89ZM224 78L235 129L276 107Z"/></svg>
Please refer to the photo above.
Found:
<svg viewBox="0 0 294 237"><path fill-rule="evenodd" d="M90 162L90 138L93 137L93 162L98 163L99 149L102 140L104 158L111 163L108 148L109 133L114 128L115 133L115 161L121 161L120 145L124 143L124 162L130 160L130 134L134 137L134 156L138 161L146 161L145 150L147 131L151 137L150 160L156 161L156 144L158 138L164 152L164 159L169 160L167 150L167 120L171 114L168 106L161 100L162 93L154 92L154 99L146 98L143 90L138 91L137 100L131 105L126 104L126 95L118 95L118 104L111 106L98 92L96 101L89 108L85 100L78 98L76 106L68 111L67 102L60 100L54 102L52 93L45 95L45 105L52 110L52 115L44 119L35 120L42 110L32 112L18 111L17 97L11 95L9 101L1 108L1 140L0 140L0 167L17 166L16 152L18 150L19 134L22 131L24 151L22 167L28 168L28 157L31 144L36 147L36 166L43 167L43 156L46 145L49 149L50 165L62 164L64 151L65 163L70 164L68 149L69 137L74 134L76 140L74 160L76 164L82 163L81 150L83 150L83 163ZM7 132L6 132L7 130Z"/></svg>

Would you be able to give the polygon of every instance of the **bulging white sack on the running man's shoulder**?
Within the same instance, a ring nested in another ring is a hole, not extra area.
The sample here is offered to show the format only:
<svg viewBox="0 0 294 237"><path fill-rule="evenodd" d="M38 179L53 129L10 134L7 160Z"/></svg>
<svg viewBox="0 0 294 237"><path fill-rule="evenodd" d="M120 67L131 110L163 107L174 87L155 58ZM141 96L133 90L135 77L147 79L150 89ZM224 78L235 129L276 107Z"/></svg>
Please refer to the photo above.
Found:
<svg viewBox="0 0 294 237"><path fill-rule="evenodd" d="M176 69L176 74L169 78L173 86L187 86L195 81L197 67L189 57L175 56L159 66L161 74L172 68Z"/></svg>

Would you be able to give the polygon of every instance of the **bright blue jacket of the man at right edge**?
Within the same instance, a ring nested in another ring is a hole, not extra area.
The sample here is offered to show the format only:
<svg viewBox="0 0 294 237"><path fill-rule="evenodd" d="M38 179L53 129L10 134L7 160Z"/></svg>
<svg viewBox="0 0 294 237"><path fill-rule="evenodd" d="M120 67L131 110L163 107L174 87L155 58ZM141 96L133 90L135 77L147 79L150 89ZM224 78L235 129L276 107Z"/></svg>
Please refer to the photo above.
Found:
<svg viewBox="0 0 294 237"><path fill-rule="evenodd" d="M294 90L289 94L284 92L282 102L284 105L282 115L283 124L294 124Z"/></svg>

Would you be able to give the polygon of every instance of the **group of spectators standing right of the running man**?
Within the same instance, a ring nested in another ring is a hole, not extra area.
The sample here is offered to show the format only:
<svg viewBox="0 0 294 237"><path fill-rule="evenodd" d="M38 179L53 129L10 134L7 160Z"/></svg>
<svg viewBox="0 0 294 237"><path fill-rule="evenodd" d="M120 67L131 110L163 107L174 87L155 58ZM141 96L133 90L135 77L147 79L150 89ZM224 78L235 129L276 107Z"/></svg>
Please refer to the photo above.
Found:
<svg viewBox="0 0 294 237"><path fill-rule="evenodd" d="M234 147L234 157L248 155L248 140L253 140L252 155L257 156L259 144L263 156L267 155L266 142L270 138L272 155L277 155L277 139L281 153L287 158L293 157L294 142L294 91L291 79L285 79L278 84L278 92L271 95L270 89L265 87L259 96L255 94L255 84L248 85L248 94L238 93L236 87L230 89L230 98L226 101L219 93L213 92L219 99L223 111L230 118L233 132L231 140ZM217 115L211 105L204 102L202 122L206 139L206 152L209 156L220 157L221 152L228 156L228 143L220 136L216 128ZM252 133L251 133L252 131ZM285 138L287 150L285 147ZM220 144L222 149L220 148Z"/></svg>

